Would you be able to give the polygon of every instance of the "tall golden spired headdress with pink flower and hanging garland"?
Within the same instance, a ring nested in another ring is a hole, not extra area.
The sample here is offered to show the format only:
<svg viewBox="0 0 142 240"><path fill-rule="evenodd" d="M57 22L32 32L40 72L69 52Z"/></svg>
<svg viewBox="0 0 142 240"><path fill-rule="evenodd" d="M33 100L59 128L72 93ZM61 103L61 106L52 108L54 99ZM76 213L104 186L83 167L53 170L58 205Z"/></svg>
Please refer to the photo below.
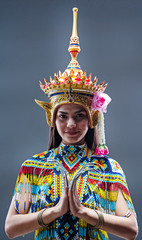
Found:
<svg viewBox="0 0 142 240"><path fill-rule="evenodd" d="M82 71L77 55L80 52L79 38L77 35L77 8L73 8L73 28L68 51L71 54L71 61L64 73L50 77L50 82L44 79L45 84L40 82L40 87L48 96L50 102L35 100L36 103L46 111L47 123L54 126L54 118L57 107L63 104L75 103L83 106L88 114L90 127L94 128L98 124L99 146L95 154L106 155L108 148L105 144L104 117L107 105L111 98L104 93L107 84L102 82L97 85L98 79L95 77L91 81L91 74L86 75Z"/></svg>

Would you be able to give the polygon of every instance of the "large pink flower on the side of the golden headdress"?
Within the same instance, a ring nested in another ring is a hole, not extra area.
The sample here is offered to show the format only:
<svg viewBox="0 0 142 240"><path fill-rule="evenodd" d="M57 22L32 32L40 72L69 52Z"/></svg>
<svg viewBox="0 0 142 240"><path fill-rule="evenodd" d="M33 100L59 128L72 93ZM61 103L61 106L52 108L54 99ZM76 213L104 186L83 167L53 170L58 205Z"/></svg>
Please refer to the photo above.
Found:
<svg viewBox="0 0 142 240"><path fill-rule="evenodd" d="M94 111L99 112L107 112L107 105L111 102L111 98L106 94L102 92L96 92L94 93L93 99L92 99L92 105L91 108Z"/></svg>

